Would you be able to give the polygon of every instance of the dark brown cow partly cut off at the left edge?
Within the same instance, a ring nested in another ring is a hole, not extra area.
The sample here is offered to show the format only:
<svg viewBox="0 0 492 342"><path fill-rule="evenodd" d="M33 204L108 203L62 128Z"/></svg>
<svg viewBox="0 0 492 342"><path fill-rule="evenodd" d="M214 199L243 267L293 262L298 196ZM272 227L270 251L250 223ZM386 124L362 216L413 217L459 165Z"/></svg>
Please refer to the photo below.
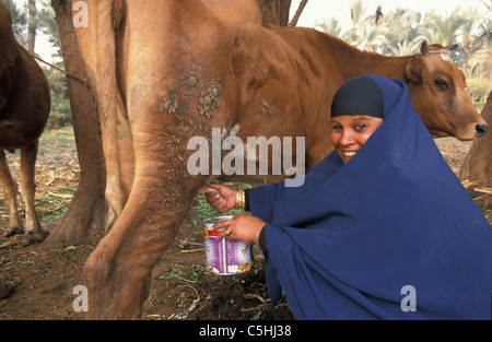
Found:
<svg viewBox="0 0 492 342"><path fill-rule="evenodd" d="M7 164L7 151L21 150L21 191L25 201L28 243L45 239L34 208L34 169L39 135L50 108L48 81L33 57L15 40L12 17L0 3L0 181L9 210L5 236L23 232L17 185Z"/></svg>

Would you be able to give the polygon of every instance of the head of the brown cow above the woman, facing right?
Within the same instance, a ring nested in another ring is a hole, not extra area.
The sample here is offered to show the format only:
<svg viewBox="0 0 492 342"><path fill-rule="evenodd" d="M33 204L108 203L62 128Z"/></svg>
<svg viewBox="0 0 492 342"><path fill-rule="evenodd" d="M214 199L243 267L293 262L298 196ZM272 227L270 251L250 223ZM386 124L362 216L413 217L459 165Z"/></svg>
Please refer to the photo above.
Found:
<svg viewBox="0 0 492 342"><path fill-rule="evenodd" d="M427 46L424 40L406 73L413 106L431 134L470 140L485 134L488 126L465 91L465 74L449 59L456 47Z"/></svg>

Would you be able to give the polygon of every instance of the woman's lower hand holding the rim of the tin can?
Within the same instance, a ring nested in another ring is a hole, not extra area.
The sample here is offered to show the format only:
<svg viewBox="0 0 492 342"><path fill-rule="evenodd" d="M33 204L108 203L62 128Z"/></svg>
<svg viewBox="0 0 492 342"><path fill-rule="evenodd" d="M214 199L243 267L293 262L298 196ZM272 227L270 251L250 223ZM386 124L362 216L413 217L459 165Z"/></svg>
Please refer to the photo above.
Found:
<svg viewBox="0 0 492 342"><path fill-rule="evenodd" d="M212 231L220 231L218 239L225 236L230 240L242 240L258 245L259 234L267 223L261 219L248 214L234 215L232 220L224 220L213 225Z"/></svg>

